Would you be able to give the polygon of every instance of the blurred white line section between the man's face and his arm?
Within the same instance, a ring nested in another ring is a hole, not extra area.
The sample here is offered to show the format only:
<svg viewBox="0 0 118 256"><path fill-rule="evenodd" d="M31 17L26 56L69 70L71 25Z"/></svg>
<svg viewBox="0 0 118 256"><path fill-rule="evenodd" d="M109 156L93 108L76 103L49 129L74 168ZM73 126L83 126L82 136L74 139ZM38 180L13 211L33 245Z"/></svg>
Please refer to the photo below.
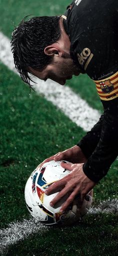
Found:
<svg viewBox="0 0 118 256"><path fill-rule="evenodd" d="M59 107L70 120L75 122L84 131L89 131L98 121L100 113L88 106L85 100L75 94L69 87L61 87L51 80L49 82L38 81L36 87L38 93Z"/></svg>

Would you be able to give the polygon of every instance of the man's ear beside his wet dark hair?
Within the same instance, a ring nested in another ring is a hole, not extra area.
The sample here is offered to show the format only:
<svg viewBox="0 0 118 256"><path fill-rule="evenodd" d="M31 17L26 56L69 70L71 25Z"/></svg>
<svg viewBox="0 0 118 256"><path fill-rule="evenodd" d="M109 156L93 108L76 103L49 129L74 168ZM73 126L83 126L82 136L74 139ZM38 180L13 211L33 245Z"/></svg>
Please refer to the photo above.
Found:
<svg viewBox="0 0 118 256"><path fill-rule="evenodd" d="M45 55L58 55L59 57L62 56L62 50L59 47L53 46L53 45L48 45L47 47L44 48L44 53Z"/></svg>

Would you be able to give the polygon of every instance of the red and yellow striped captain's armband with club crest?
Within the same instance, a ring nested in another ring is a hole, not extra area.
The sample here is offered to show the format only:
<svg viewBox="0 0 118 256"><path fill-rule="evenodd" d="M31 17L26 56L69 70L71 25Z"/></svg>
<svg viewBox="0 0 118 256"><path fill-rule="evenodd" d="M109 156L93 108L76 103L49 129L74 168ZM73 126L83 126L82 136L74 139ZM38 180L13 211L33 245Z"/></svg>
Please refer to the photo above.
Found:
<svg viewBox="0 0 118 256"><path fill-rule="evenodd" d="M118 72L105 79L94 82L101 100L111 100L118 97Z"/></svg>

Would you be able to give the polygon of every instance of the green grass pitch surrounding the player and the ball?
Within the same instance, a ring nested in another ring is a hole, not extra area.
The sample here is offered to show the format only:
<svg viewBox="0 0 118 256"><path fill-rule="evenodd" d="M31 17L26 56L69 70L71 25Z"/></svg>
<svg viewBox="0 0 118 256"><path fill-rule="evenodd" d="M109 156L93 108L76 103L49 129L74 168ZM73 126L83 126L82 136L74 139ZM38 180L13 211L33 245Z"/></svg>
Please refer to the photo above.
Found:
<svg viewBox="0 0 118 256"><path fill-rule="evenodd" d="M24 16L60 15L68 3L0 0L0 32L10 39L13 24L17 26ZM86 75L73 78L67 86L102 112L95 85ZM24 186L30 173L45 158L75 145L84 135L81 127L43 95L30 92L20 77L0 62L0 240L3 228L11 222L30 219L24 202ZM115 160L107 176L95 186L94 207L100 201L117 198L117 168ZM9 235L12 237L12 233ZM117 212L100 212L86 215L73 227L41 227L41 232L11 242L3 254L115 256L117 238Z"/></svg>

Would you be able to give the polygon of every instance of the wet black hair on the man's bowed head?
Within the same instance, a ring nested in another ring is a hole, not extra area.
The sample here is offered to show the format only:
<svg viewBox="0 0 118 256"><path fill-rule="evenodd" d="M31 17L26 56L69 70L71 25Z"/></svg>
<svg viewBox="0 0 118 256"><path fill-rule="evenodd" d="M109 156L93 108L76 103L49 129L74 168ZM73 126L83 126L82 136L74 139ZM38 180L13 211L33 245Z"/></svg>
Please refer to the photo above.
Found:
<svg viewBox="0 0 118 256"><path fill-rule="evenodd" d="M30 86L32 81L28 67L42 71L52 61L44 54L44 48L60 37L59 16L25 17L13 30L11 51L15 68L21 79Z"/></svg>

